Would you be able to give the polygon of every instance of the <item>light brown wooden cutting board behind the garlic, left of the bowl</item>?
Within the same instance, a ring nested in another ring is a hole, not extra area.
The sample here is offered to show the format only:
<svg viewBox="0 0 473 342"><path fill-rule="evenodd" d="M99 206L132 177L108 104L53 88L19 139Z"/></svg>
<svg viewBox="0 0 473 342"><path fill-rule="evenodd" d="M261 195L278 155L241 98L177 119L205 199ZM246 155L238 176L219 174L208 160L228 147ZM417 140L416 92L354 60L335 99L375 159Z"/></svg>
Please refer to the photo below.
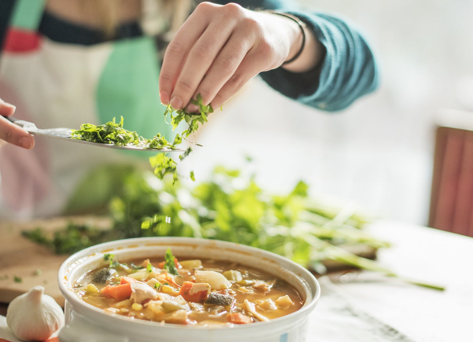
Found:
<svg viewBox="0 0 473 342"><path fill-rule="evenodd" d="M80 224L86 220L92 220L99 226L104 221L96 217L60 217L26 223L0 223L0 303L9 303L33 286L41 285L44 293L63 307L64 297L57 277L62 262L69 255L56 255L47 247L26 239L21 232L36 227L53 232L64 228L70 221ZM15 281L15 277L21 278L21 281Z"/></svg>

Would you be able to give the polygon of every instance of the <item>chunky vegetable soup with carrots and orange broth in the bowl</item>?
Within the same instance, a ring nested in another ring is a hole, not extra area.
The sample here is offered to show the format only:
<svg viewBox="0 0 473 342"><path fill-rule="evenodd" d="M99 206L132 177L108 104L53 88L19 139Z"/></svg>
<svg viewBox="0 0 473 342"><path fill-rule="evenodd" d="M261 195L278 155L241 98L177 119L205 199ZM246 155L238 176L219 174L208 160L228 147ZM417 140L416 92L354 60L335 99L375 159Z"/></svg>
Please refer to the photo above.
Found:
<svg viewBox="0 0 473 342"><path fill-rule="evenodd" d="M88 271L74 285L85 302L106 311L156 322L248 324L288 315L304 304L284 279L230 261L114 260Z"/></svg>

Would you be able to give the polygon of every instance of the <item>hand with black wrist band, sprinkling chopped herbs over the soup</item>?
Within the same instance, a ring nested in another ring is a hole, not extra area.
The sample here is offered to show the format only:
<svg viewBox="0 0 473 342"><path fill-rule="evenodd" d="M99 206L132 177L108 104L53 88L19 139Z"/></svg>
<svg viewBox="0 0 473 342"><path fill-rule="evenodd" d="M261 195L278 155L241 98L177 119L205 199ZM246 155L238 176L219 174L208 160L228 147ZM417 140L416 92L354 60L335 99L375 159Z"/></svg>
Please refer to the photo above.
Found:
<svg viewBox="0 0 473 342"><path fill-rule="evenodd" d="M200 3L169 43L159 77L161 102L178 110L201 94L203 104L220 107L258 73L279 67L300 49L298 24L269 12L237 4ZM312 69L320 60L320 43L306 29L306 47L284 67Z"/></svg>

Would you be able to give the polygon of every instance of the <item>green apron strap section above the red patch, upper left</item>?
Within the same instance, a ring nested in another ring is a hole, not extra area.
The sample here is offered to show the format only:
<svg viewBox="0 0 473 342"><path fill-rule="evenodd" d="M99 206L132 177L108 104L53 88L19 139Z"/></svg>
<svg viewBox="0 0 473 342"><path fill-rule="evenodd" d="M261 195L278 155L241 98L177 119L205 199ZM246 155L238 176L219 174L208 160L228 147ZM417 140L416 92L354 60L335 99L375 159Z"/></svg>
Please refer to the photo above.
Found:
<svg viewBox="0 0 473 342"><path fill-rule="evenodd" d="M29 31L37 31L43 17L46 0L17 0L10 25Z"/></svg>

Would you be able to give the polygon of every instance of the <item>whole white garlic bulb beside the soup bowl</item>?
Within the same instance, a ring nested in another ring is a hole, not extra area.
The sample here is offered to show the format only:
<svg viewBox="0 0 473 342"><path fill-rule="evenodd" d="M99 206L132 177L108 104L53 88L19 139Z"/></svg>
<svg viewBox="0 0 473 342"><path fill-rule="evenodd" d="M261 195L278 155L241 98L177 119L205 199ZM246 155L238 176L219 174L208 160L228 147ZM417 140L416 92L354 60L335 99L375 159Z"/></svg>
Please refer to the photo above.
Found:
<svg viewBox="0 0 473 342"><path fill-rule="evenodd" d="M7 324L20 340L45 341L64 325L64 313L44 287L35 286L10 302Z"/></svg>

